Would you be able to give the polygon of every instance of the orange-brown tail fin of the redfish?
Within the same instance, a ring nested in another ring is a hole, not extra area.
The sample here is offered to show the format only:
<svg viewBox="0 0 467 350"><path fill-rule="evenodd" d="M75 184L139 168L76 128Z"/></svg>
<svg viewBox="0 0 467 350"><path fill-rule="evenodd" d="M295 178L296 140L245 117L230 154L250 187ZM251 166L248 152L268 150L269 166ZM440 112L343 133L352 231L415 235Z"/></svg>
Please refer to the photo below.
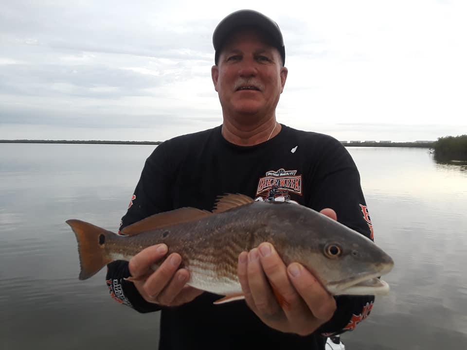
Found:
<svg viewBox="0 0 467 350"><path fill-rule="evenodd" d="M106 251L106 241L110 231L81 220L67 220L78 241L80 280L87 280L99 272L112 258Z"/></svg>

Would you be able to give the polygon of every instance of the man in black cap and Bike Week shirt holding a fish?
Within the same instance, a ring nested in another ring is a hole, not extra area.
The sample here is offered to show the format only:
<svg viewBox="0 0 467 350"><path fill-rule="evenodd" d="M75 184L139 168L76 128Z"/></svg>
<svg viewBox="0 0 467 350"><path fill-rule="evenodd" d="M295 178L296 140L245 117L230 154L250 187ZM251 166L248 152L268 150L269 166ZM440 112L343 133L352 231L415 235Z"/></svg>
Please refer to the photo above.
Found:
<svg viewBox="0 0 467 350"><path fill-rule="evenodd" d="M334 138L287 127L275 108L286 79L285 47L275 22L242 10L213 35L212 79L222 125L159 145L147 158L121 228L180 207L212 210L216 197L294 201L371 237L358 170ZM167 247L144 249L129 263L108 265L111 294L141 313L161 310L159 349L324 349L325 336L352 330L374 297L332 297L298 263L286 266L265 242L238 257L245 301L213 305L219 296L186 285L189 271ZM124 278L131 275L135 280ZM286 303L279 303L273 284ZM115 293L117 290L119 293ZM283 306L281 306L283 305Z"/></svg>

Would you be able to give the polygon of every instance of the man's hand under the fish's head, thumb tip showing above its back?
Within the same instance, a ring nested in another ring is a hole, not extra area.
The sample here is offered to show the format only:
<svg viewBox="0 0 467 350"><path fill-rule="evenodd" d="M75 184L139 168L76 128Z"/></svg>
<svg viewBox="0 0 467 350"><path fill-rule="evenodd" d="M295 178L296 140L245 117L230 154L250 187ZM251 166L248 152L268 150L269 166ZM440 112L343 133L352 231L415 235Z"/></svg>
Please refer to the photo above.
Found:
<svg viewBox="0 0 467 350"><path fill-rule="evenodd" d="M337 219L334 210L321 213ZM269 243L239 255L238 278L251 310L278 331L311 334L336 311L321 283L297 262L286 266Z"/></svg>

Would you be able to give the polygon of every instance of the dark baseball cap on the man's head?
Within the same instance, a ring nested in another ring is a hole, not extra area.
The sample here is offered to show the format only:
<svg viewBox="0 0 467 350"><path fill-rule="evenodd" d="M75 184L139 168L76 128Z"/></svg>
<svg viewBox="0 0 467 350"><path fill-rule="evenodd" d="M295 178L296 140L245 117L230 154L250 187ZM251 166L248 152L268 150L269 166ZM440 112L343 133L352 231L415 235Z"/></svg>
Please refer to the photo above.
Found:
<svg viewBox="0 0 467 350"><path fill-rule="evenodd" d="M214 50L216 50L214 61L216 65L219 60L219 54L222 51L226 40L236 30L244 27L258 28L267 35L271 44L279 50L282 57L282 65L285 65L286 49L284 47L284 39L279 26L269 17L253 10L235 11L217 24L213 34Z"/></svg>

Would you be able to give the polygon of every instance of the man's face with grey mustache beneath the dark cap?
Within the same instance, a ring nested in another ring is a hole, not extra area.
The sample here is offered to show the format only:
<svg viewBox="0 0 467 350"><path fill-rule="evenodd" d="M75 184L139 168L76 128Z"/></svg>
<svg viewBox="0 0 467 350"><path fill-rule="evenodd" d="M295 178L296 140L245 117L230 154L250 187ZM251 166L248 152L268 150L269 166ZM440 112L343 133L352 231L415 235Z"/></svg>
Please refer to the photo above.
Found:
<svg viewBox="0 0 467 350"><path fill-rule="evenodd" d="M251 30L231 36L211 73L229 116L274 113L287 78L279 51Z"/></svg>

